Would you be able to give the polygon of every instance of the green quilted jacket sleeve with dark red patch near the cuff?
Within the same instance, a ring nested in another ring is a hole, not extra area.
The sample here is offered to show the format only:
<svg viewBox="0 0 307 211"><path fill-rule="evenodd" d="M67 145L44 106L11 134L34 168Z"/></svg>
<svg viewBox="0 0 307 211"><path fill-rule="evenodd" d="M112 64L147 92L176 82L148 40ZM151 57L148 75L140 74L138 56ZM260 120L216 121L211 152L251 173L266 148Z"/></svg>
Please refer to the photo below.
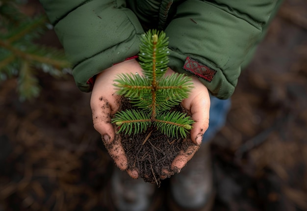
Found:
<svg viewBox="0 0 307 211"><path fill-rule="evenodd" d="M281 0L186 0L165 32L169 66L196 75L214 96L229 98L241 65ZM182 68L183 67L183 68Z"/></svg>

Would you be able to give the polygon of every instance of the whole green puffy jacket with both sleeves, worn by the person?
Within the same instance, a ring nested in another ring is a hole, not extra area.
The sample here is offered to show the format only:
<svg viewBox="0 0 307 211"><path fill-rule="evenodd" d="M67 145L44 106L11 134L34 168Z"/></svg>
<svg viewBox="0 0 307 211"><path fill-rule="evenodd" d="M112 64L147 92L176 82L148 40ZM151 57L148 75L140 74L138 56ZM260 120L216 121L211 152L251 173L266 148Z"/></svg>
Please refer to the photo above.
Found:
<svg viewBox="0 0 307 211"><path fill-rule="evenodd" d="M227 99L281 0L40 0L82 91L104 69L139 52L140 36L164 30L172 70L196 75Z"/></svg>

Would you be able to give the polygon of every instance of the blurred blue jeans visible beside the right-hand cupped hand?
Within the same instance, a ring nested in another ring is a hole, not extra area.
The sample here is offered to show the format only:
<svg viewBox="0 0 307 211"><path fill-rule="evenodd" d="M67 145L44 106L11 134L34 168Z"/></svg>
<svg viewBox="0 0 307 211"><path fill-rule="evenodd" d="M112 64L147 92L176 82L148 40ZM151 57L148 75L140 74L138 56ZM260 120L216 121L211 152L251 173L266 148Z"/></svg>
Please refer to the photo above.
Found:
<svg viewBox="0 0 307 211"><path fill-rule="evenodd" d="M216 97L210 96L210 119L209 128L203 136L203 143L212 140L212 138L219 132L225 125L228 111L230 110L231 101L220 100Z"/></svg>

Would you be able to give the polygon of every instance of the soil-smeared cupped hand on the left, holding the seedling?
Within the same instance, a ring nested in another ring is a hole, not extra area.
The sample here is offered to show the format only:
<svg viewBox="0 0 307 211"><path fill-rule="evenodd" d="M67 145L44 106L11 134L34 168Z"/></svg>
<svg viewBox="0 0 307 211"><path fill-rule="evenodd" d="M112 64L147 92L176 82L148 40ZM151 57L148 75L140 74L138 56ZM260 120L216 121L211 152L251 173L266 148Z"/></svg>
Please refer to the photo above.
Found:
<svg viewBox="0 0 307 211"><path fill-rule="evenodd" d="M141 74L141 67L135 59L130 59L105 69L98 74L91 95L93 124L96 131L102 135L102 141L121 170L127 170L128 162L121 143L120 136L114 131L110 115L115 114L120 107L120 96L114 89L114 79L121 73ZM132 177L137 177L135 171L128 171Z"/></svg>

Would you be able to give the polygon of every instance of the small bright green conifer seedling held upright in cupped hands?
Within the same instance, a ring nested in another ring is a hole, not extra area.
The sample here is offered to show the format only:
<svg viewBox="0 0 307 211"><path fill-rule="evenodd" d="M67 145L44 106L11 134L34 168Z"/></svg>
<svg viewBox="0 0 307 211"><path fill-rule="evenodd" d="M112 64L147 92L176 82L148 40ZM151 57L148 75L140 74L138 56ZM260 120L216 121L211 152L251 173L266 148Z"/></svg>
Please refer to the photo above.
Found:
<svg viewBox="0 0 307 211"><path fill-rule="evenodd" d="M139 64L143 76L120 74L115 79L117 94L129 99L136 109L115 114L112 123L118 132L137 134L150 127L169 137L186 137L194 121L186 113L170 111L188 97L193 83L184 74L165 76L168 69L168 38L163 31L149 30L142 35Z"/></svg>

